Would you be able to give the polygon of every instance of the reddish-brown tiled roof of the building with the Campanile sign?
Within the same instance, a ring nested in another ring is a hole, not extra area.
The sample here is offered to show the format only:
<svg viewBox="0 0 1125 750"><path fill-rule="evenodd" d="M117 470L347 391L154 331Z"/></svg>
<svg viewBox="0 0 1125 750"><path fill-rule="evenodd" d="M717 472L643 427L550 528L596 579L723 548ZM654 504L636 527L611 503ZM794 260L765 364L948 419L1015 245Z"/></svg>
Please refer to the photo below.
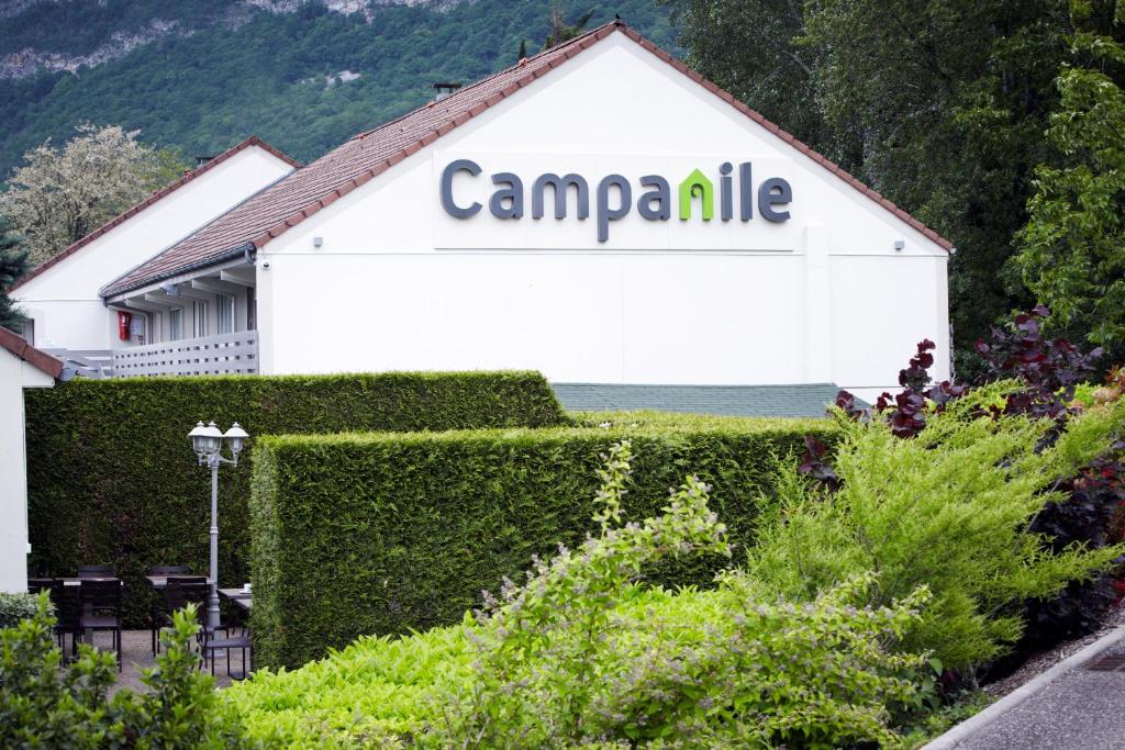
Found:
<svg viewBox="0 0 1125 750"><path fill-rule="evenodd" d="M339 148L236 206L147 263L112 281L102 289L102 295L109 297L166 279L186 269L222 260L243 247L261 249L322 208L332 205L613 33L624 34L942 247L946 250L953 247L948 241L925 224L735 99L729 92L705 80L623 22L611 21L566 44L521 60L516 65L467 85L441 101L432 101L396 120L360 133Z"/></svg>

